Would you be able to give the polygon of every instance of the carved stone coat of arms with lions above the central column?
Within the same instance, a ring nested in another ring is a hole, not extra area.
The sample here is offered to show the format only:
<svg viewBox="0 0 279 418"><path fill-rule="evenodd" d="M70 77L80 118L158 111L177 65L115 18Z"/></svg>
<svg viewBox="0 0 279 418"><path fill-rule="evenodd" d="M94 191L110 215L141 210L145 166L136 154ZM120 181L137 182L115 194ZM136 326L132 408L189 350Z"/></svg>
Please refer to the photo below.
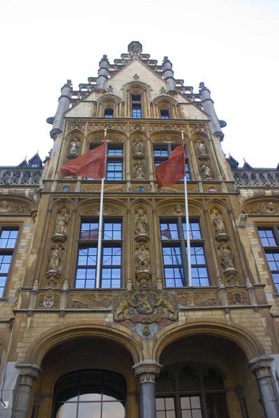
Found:
<svg viewBox="0 0 279 418"><path fill-rule="evenodd" d="M133 290L114 293L114 320L134 327L137 323L169 325L178 318L176 295L154 284L137 284Z"/></svg>

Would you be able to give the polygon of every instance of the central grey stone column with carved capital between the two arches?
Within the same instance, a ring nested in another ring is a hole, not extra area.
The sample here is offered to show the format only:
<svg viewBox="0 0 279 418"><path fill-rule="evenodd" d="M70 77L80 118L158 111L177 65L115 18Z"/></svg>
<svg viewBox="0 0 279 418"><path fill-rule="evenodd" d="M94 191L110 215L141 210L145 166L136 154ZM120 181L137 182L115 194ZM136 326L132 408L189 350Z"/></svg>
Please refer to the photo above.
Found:
<svg viewBox="0 0 279 418"><path fill-rule="evenodd" d="M133 366L140 378L140 418L156 418L155 378L162 366L153 360L143 360Z"/></svg>

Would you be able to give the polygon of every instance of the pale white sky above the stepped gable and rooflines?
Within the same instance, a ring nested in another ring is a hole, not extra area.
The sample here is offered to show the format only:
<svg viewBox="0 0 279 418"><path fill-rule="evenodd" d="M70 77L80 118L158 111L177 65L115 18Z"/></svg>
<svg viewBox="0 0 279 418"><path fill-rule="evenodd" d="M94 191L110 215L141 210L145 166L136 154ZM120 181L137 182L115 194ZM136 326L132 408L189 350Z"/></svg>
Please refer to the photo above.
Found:
<svg viewBox="0 0 279 418"><path fill-rule="evenodd" d="M139 40L174 77L211 90L223 150L243 165L276 167L278 145L278 0L14 0L0 6L0 165L17 165L52 148L60 88L78 89Z"/></svg>

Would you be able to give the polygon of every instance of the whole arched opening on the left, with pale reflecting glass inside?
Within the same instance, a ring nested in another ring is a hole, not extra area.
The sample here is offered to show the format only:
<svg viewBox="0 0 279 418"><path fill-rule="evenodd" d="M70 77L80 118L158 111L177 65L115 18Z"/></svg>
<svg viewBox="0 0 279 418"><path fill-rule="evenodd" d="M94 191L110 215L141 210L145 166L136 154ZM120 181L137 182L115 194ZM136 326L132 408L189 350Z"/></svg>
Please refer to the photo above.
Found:
<svg viewBox="0 0 279 418"><path fill-rule="evenodd" d="M83 336L59 343L45 354L35 392L43 394L36 417L137 417L134 361L118 341Z"/></svg>

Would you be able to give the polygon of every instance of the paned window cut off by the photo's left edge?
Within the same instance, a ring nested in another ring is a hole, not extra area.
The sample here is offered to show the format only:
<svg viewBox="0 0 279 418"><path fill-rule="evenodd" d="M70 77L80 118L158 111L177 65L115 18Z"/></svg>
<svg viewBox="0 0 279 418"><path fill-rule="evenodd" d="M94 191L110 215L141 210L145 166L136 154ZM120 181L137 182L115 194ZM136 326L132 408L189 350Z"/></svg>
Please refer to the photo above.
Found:
<svg viewBox="0 0 279 418"><path fill-rule="evenodd" d="M18 230L2 229L0 235L0 297L3 297L8 279L13 251L17 242Z"/></svg>

